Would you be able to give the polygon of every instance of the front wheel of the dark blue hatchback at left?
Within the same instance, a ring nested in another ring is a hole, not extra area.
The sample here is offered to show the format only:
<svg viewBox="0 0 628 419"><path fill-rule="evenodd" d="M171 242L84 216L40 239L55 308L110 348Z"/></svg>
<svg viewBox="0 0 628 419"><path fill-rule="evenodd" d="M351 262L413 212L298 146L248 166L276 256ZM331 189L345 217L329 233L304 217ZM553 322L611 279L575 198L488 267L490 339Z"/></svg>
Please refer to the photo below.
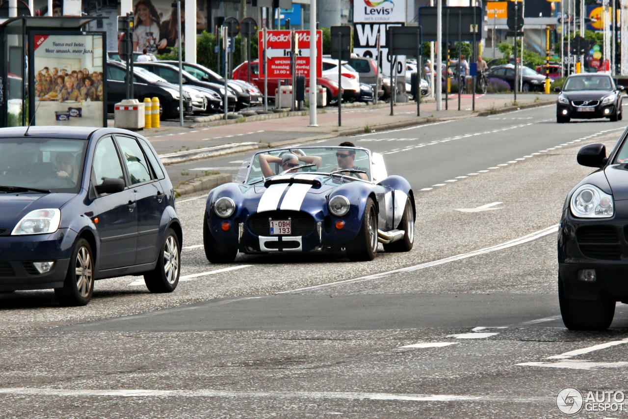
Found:
<svg viewBox="0 0 628 419"><path fill-rule="evenodd" d="M94 257L87 240L80 238L72 251L62 288L55 296L62 306L84 306L94 293Z"/></svg>

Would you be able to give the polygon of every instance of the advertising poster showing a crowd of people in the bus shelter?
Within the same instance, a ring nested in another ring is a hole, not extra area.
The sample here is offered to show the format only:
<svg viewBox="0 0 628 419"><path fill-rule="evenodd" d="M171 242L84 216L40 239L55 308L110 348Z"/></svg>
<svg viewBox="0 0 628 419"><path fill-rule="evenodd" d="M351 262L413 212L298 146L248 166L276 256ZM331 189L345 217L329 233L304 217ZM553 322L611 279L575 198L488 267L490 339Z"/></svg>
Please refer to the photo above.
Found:
<svg viewBox="0 0 628 419"><path fill-rule="evenodd" d="M36 125L104 126L104 36L34 35Z"/></svg>

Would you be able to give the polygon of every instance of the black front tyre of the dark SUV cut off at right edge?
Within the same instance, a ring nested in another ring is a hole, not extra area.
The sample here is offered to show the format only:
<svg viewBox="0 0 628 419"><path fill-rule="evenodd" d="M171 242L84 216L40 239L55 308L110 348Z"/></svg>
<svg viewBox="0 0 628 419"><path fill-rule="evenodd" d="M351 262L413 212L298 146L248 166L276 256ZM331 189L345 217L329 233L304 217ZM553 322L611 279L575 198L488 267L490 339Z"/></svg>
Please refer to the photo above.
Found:
<svg viewBox="0 0 628 419"><path fill-rule="evenodd" d="M558 276L558 303L565 327L570 330L606 330L615 316L615 300L606 295L597 299L571 299L565 296Z"/></svg>

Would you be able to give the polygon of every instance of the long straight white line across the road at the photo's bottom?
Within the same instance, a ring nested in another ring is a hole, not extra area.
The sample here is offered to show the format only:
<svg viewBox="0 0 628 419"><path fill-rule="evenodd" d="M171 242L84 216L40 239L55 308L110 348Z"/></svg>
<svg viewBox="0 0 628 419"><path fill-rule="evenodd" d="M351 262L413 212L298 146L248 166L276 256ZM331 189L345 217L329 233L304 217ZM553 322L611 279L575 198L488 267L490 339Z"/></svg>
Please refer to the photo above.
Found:
<svg viewBox="0 0 628 419"><path fill-rule="evenodd" d="M486 399L485 396L457 396L454 394L391 394L391 393L335 393L332 391L220 391L198 390L146 390L111 389L77 390L58 388L0 388L0 394L23 396L58 397L222 397L222 398L268 398L268 399L339 399L339 400L403 400L403 401L469 401ZM512 398L509 398L512 401Z"/></svg>

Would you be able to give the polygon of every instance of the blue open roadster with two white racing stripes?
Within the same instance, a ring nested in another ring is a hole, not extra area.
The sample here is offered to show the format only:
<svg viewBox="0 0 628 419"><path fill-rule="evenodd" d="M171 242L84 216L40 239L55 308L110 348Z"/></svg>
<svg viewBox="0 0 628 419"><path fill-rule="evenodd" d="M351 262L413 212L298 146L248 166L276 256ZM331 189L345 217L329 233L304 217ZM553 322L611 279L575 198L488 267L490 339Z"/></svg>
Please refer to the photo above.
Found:
<svg viewBox="0 0 628 419"><path fill-rule="evenodd" d="M408 252L414 194L384 159L361 147L277 148L242 164L235 182L210 191L203 218L205 255L341 251L372 260L377 243Z"/></svg>

